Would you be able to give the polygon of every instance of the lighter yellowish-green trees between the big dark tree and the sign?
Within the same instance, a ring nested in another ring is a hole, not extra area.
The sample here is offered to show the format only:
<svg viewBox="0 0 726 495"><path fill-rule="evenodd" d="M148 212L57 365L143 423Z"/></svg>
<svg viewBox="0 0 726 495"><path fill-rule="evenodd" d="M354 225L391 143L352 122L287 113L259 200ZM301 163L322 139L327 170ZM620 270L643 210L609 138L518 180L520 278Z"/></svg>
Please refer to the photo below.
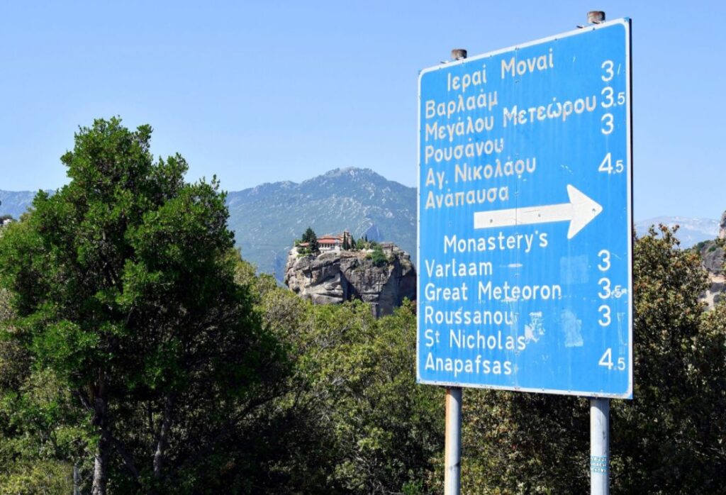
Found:
<svg viewBox="0 0 726 495"><path fill-rule="evenodd" d="M444 399L415 383L415 306L375 319L362 301L314 306L250 267L240 274L293 363L288 393L265 409L279 435L264 443L272 468L258 491L430 493Z"/></svg>

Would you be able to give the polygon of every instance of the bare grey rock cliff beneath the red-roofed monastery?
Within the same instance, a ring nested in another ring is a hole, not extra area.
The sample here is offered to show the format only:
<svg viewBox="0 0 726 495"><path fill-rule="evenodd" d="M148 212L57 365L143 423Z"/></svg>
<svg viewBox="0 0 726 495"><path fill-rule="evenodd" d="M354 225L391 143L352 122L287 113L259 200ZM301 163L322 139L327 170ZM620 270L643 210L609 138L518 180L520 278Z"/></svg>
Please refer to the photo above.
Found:
<svg viewBox="0 0 726 495"><path fill-rule="evenodd" d="M376 317L391 314L404 298L416 298L416 270L404 250L389 243L381 247L388 258L383 266L375 266L365 251L330 251L316 257L300 256L293 247L285 285L314 304L360 299Z"/></svg>

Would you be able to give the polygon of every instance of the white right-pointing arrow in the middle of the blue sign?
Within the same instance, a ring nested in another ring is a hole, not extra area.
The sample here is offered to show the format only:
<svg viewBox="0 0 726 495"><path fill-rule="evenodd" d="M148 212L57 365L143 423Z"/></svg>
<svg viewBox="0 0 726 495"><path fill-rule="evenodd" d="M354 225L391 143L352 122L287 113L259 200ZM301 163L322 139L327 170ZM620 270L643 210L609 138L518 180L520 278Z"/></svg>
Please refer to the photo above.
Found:
<svg viewBox="0 0 726 495"><path fill-rule="evenodd" d="M474 229L569 221L570 228L567 231L567 238L572 239L593 218L600 215L603 207L570 184L567 184L567 195L570 197L570 202L559 205L477 211L474 213Z"/></svg>

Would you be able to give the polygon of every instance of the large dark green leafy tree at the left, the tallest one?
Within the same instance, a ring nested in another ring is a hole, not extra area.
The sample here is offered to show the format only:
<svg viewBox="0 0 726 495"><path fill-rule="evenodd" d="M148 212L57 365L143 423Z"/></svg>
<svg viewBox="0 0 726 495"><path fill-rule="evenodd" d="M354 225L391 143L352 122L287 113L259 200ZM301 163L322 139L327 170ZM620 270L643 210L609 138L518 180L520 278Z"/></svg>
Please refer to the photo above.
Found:
<svg viewBox="0 0 726 495"><path fill-rule="evenodd" d="M116 118L81 128L70 183L0 238L15 311L1 328L84 414L94 495L229 480L224 447L285 374L234 282L219 183L185 183L179 155L155 163L150 136Z"/></svg>

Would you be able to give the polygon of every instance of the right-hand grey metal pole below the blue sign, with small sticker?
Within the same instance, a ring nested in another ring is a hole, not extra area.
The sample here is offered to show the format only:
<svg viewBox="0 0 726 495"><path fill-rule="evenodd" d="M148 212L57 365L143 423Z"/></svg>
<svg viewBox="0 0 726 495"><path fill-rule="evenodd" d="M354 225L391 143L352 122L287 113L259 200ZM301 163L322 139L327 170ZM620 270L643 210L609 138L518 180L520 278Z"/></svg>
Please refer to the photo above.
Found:
<svg viewBox="0 0 726 495"><path fill-rule="evenodd" d="M610 493L610 399L590 399L590 494Z"/></svg>

